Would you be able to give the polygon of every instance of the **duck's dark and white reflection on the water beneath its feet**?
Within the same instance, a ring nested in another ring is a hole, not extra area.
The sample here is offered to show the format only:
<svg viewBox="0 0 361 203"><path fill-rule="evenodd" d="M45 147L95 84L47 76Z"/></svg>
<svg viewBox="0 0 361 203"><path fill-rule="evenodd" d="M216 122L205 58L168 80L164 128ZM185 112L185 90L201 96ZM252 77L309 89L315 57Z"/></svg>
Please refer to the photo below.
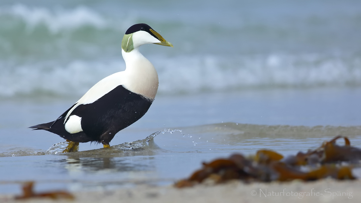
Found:
<svg viewBox="0 0 361 203"><path fill-rule="evenodd" d="M64 159L55 162L70 175L66 181L70 181L71 190L110 189L158 182L156 154L150 149L99 149L66 153Z"/></svg>

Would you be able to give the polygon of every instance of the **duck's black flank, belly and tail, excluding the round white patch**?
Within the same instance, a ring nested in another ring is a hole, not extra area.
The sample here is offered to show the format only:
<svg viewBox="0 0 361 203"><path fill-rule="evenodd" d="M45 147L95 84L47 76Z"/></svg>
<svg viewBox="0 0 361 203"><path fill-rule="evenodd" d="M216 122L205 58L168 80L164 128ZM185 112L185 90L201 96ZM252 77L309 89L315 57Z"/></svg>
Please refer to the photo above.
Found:
<svg viewBox="0 0 361 203"><path fill-rule="evenodd" d="M119 85L95 102L81 104L71 112L70 116L77 115L82 118L82 132L70 134L65 130L64 118L70 108L56 121L30 128L47 130L73 142L109 144L116 133L143 117L152 102L153 100Z"/></svg>

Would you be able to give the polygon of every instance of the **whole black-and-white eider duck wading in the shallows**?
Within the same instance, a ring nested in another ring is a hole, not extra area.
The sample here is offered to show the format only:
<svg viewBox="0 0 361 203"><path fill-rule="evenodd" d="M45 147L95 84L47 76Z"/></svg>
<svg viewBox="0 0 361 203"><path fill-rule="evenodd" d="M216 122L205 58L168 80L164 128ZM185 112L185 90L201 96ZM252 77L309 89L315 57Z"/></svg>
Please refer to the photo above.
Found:
<svg viewBox="0 0 361 203"><path fill-rule="evenodd" d="M145 23L132 25L122 40L126 69L102 79L55 121L31 126L47 130L78 146L79 142L109 142L120 130L148 111L158 90L153 64L139 52L143 44L173 45Z"/></svg>

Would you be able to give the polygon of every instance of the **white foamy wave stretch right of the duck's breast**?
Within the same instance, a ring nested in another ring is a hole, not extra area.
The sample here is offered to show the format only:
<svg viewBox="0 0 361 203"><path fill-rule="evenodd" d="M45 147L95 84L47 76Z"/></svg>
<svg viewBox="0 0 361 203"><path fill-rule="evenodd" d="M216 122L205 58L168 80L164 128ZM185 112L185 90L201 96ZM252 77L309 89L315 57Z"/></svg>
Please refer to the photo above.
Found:
<svg viewBox="0 0 361 203"><path fill-rule="evenodd" d="M158 57L159 59L159 57ZM360 86L361 59L319 55L178 57L160 62L160 92L248 87Z"/></svg>

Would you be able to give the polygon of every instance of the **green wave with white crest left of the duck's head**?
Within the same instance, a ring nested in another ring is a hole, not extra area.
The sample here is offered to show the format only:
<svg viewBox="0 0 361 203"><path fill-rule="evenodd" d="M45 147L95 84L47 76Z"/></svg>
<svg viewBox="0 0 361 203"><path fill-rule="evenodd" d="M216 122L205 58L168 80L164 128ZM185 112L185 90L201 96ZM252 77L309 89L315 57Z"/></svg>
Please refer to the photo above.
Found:
<svg viewBox="0 0 361 203"><path fill-rule="evenodd" d="M1 61L69 61L119 51L124 31L134 19L109 17L85 6L53 9L14 4L0 7L0 24Z"/></svg>

